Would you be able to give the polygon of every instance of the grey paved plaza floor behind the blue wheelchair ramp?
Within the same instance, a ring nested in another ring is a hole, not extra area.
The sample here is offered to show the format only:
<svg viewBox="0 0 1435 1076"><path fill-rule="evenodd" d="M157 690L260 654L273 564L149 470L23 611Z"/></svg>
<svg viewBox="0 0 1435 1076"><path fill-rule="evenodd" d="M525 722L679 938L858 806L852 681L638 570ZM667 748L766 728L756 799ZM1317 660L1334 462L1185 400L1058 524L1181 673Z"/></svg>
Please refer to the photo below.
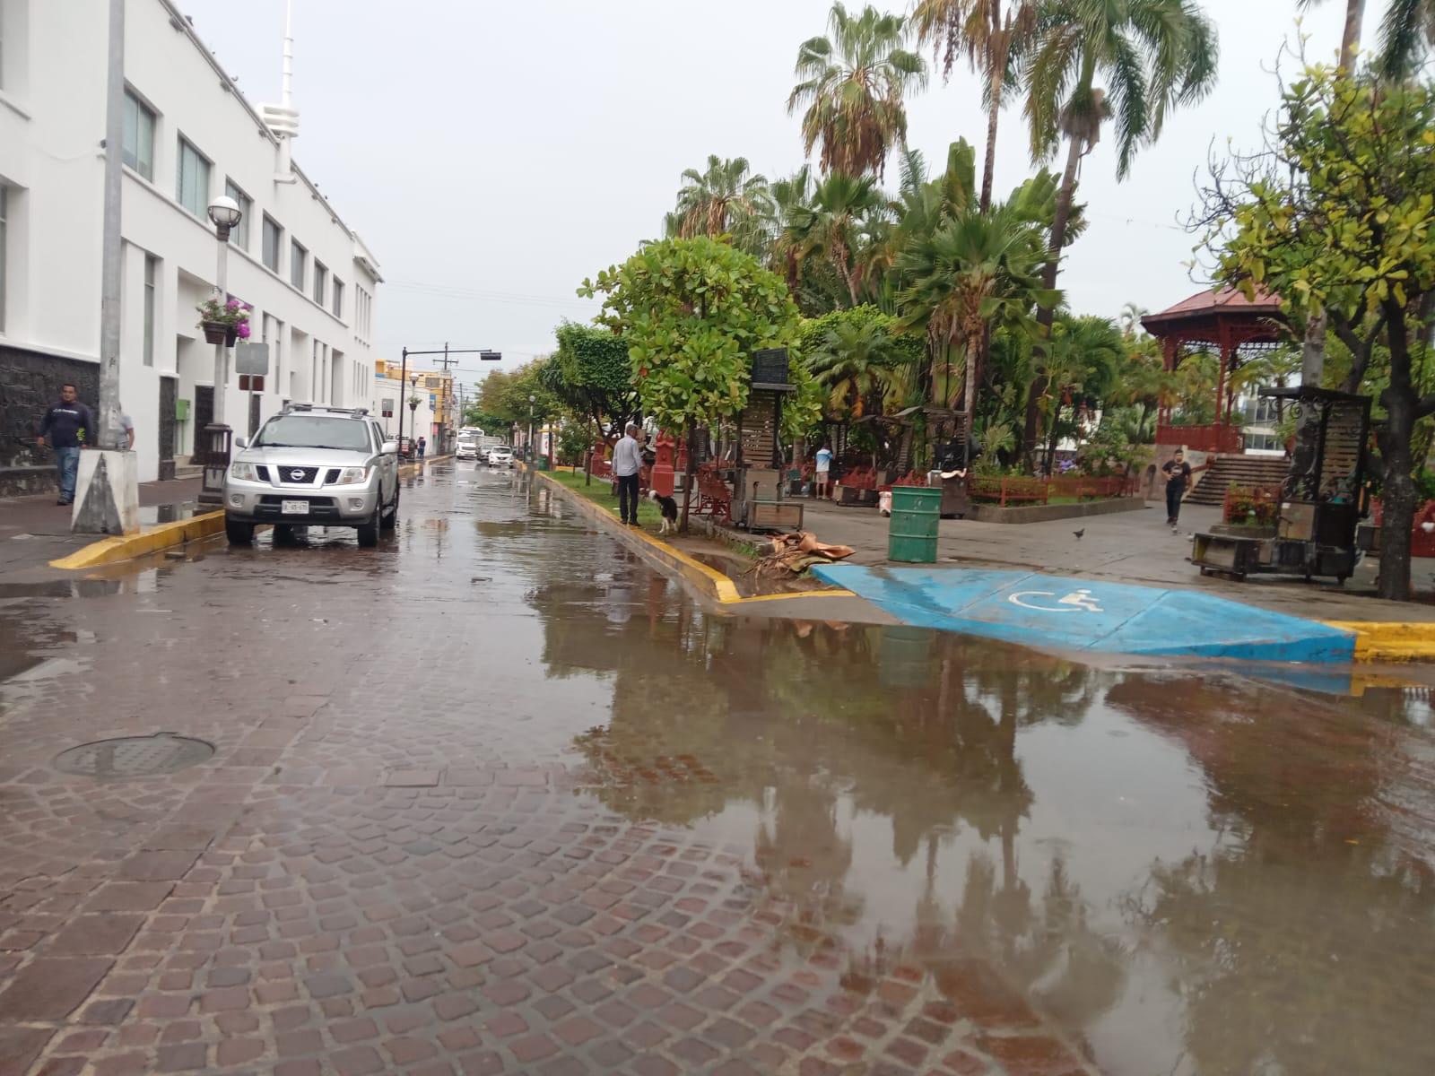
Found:
<svg viewBox="0 0 1435 1076"><path fill-rule="evenodd" d="M887 564L887 524L875 508L838 508L805 501L804 529L824 542L857 549L847 564ZM1195 531L1220 522L1218 508L1188 505L1181 527L1165 527L1162 508L1142 512L1058 519L1043 524L979 524L943 519L937 567L999 567L1079 575L1148 587L1192 590L1231 601L1319 621L1435 623L1435 561L1416 560L1412 584L1416 601L1391 603L1375 597L1379 561L1366 558L1345 587L1333 580L1304 582L1290 577L1250 577L1246 582L1207 578L1190 562ZM1076 531L1082 537L1076 537Z"/></svg>

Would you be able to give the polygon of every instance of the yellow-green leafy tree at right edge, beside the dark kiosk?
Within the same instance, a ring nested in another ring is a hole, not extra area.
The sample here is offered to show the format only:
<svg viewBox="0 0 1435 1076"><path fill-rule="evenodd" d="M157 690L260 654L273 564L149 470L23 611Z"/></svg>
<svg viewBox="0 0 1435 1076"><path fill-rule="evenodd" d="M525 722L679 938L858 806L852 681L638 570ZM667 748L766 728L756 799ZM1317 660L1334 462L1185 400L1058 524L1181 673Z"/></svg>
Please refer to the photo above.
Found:
<svg viewBox="0 0 1435 1076"><path fill-rule="evenodd" d="M1385 380L1379 594L1408 598L1412 436L1435 415L1416 387L1435 329L1435 86L1307 67L1270 151L1215 169L1205 215L1223 281L1323 311L1350 349L1347 384Z"/></svg>

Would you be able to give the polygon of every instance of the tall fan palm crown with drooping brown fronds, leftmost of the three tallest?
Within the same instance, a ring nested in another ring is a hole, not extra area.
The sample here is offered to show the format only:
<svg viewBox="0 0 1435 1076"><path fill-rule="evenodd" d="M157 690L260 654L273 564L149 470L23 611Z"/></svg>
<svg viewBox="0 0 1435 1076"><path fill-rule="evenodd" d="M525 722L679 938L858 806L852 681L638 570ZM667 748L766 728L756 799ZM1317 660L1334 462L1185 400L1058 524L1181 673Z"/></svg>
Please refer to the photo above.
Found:
<svg viewBox="0 0 1435 1076"><path fill-rule="evenodd" d="M901 16L864 7L855 19L841 3L828 17L829 37L798 49L801 82L788 98L788 113L802 113L806 154L822 142L822 169L883 175L887 154L907 142L903 98L927 82L927 65L903 47Z"/></svg>

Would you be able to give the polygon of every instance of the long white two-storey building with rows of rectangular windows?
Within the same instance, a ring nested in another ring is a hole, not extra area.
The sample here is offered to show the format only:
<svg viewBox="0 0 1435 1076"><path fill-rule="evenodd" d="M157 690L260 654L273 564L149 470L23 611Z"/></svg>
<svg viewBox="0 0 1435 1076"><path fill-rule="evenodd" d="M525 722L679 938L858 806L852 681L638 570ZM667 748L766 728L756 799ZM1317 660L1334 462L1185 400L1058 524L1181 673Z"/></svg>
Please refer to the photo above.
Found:
<svg viewBox="0 0 1435 1076"><path fill-rule="evenodd" d="M0 469L13 472L40 462L20 428L62 380L96 403L106 9L0 0ZM244 209L228 293L254 306L251 340L270 347L253 413L238 379L225 386L235 433L290 400L370 406L382 277L290 162L293 113L267 113L276 133L169 0L126 0L125 76L121 397L141 479L172 472L212 413L214 347L195 306L215 280L215 195Z"/></svg>

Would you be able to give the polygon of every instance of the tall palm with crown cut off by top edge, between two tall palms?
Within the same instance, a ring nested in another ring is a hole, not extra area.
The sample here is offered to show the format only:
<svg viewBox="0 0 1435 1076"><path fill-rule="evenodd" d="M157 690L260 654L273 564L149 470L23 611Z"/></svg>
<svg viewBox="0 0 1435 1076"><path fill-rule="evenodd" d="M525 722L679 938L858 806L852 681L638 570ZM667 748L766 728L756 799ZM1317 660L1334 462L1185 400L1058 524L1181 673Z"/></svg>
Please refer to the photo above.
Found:
<svg viewBox="0 0 1435 1076"><path fill-rule="evenodd" d="M1013 55L1032 39L1040 0L918 0L911 17L917 40L931 42L933 59L943 55L943 76L951 75L951 62L964 52L973 70L986 79L987 143L982 166L982 208L992 205L992 171L996 166L996 126L1002 112L1002 93Z"/></svg>

